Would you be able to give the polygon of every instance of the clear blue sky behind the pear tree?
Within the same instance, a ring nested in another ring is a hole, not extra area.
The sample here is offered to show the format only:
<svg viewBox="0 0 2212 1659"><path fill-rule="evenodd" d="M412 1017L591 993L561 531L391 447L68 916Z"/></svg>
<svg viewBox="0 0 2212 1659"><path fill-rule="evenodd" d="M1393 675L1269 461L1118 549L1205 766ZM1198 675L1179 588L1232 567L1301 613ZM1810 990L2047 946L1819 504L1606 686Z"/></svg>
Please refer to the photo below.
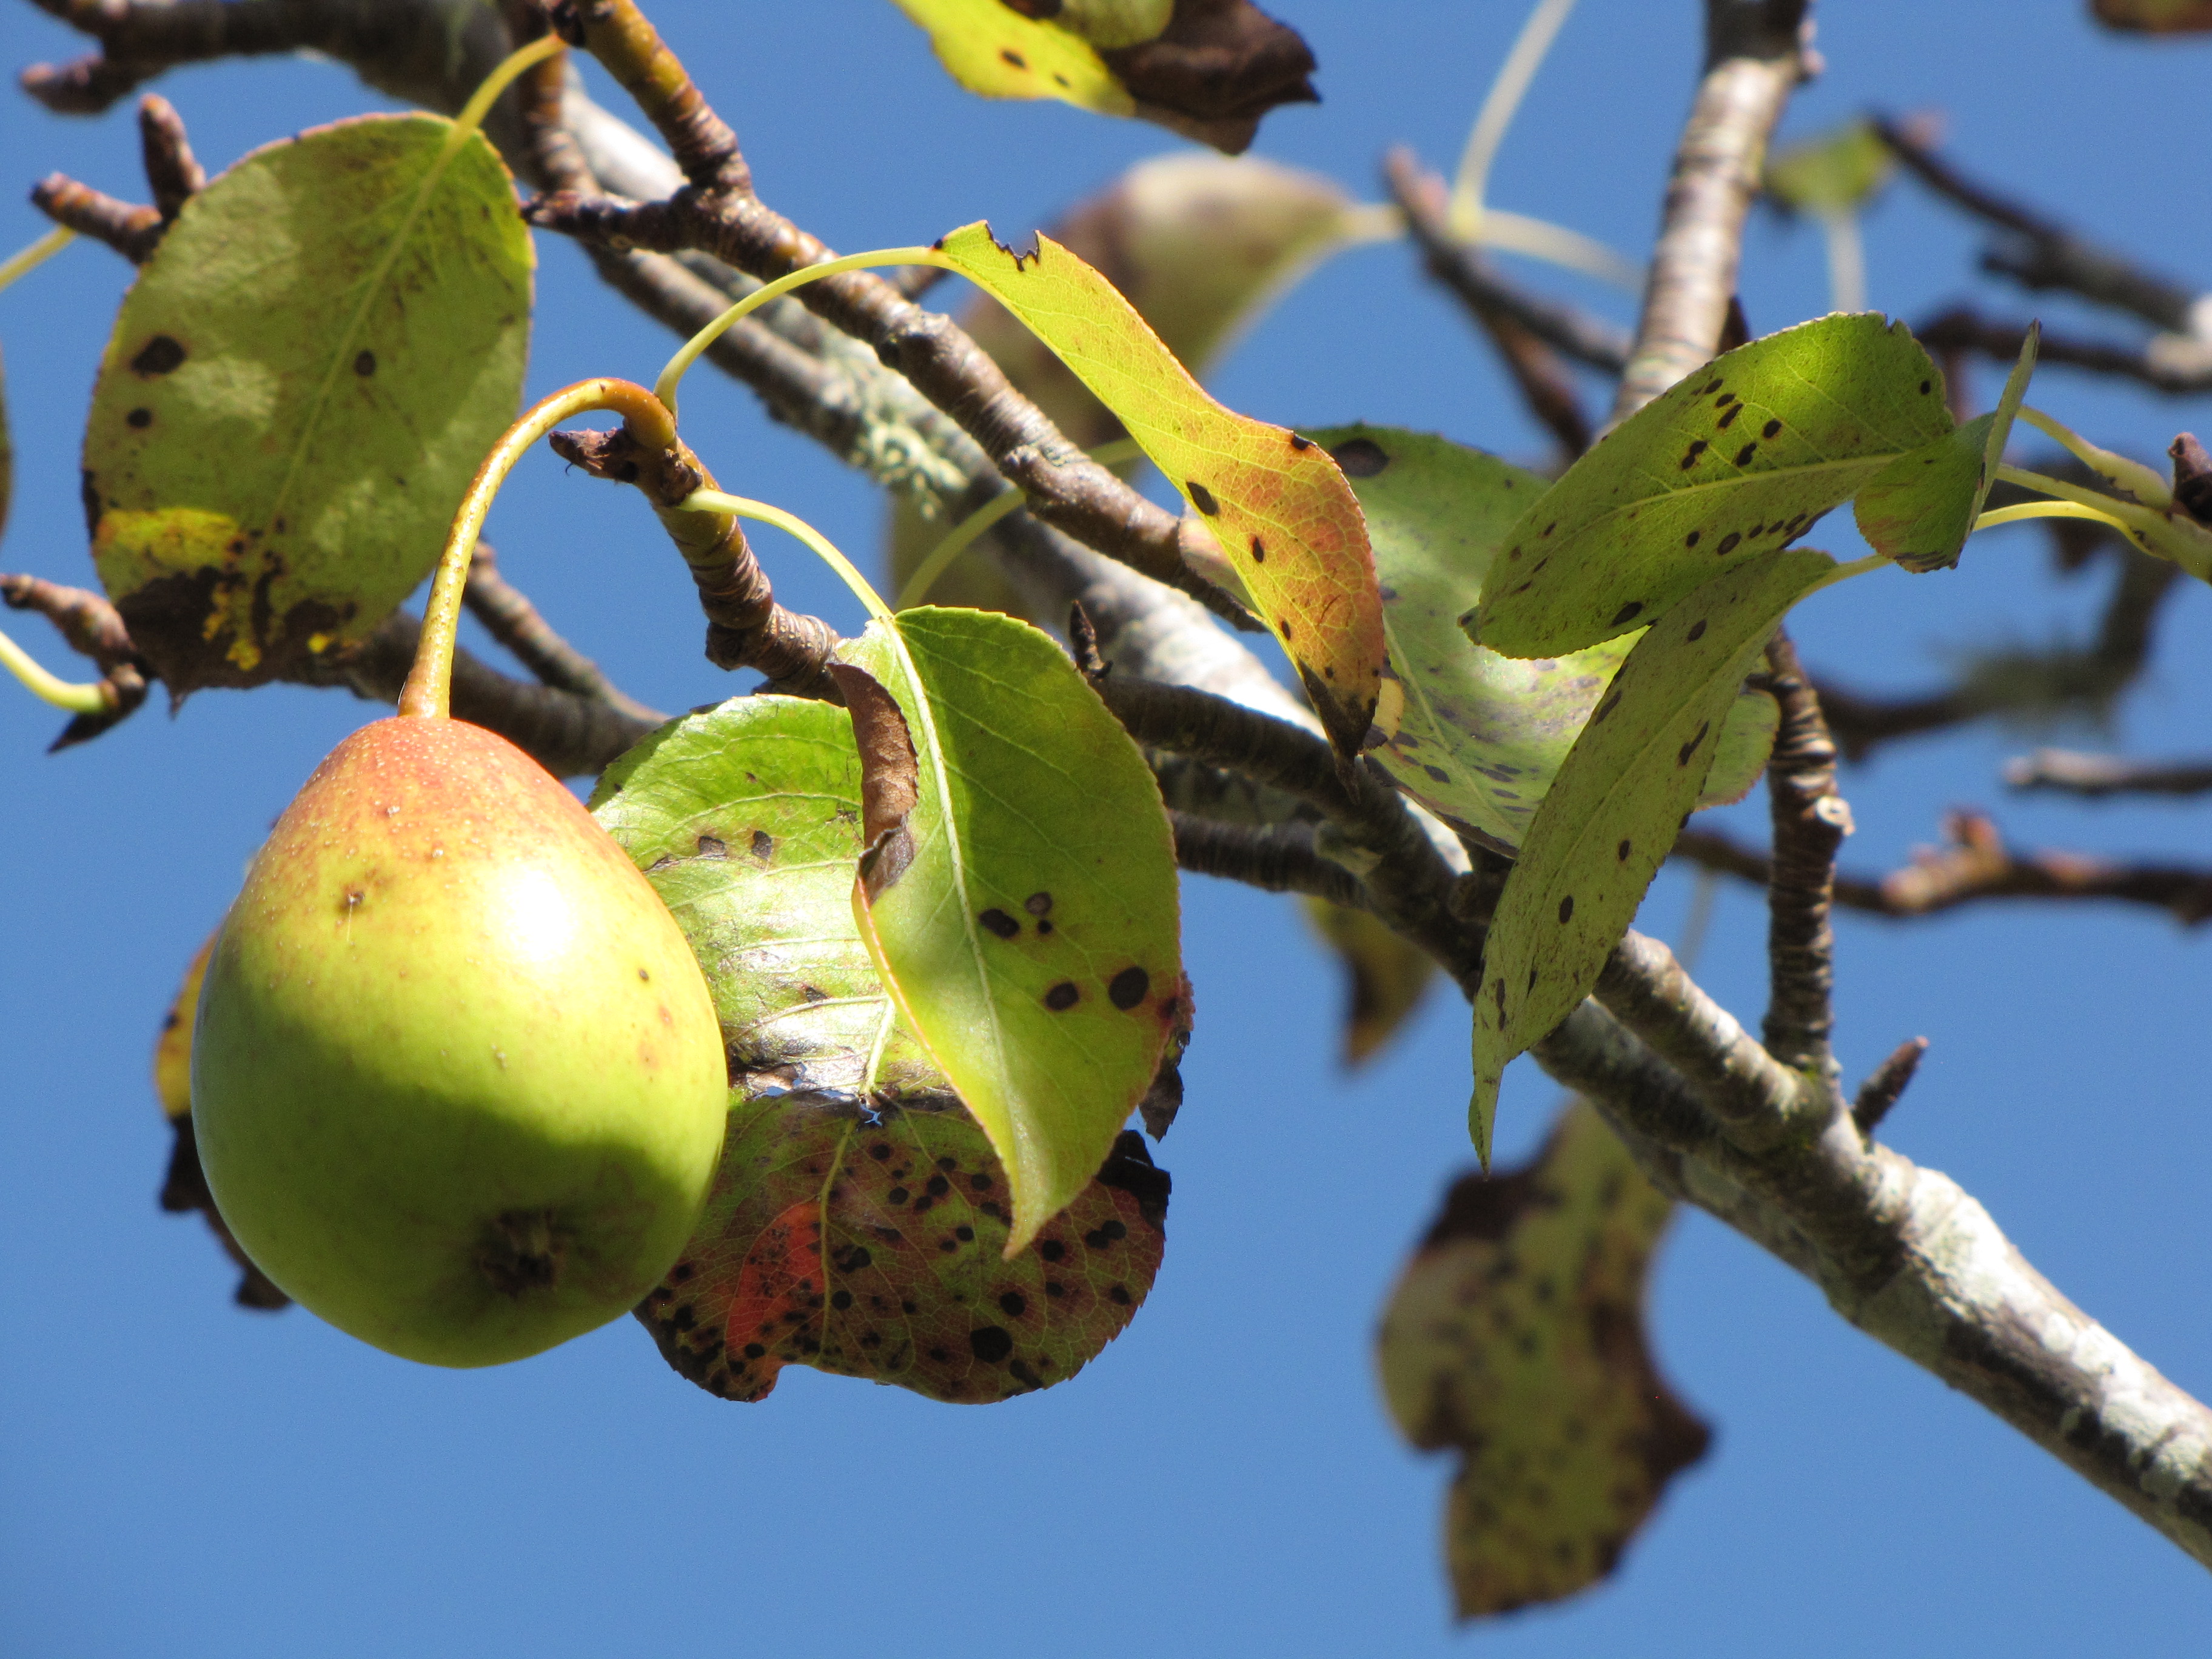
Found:
<svg viewBox="0 0 2212 1659"><path fill-rule="evenodd" d="M1281 0L1321 58L1318 108L1259 148L1376 190L1394 142L1449 159L1520 4ZM1697 62L1692 0L1584 0L1493 184L1641 252ZM927 241L991 217L1048 221L1172 139L1057 106L958 93L887 0L653 7L737 124L770 201L838 248ZM1823 9L1829 71L1790 131L1867 104L1940 106L1951 150L2064 206L2097 237L2212 281L2203 212L2212 46L2097 33L2077 0L1867 0ZM0 0L13 71L77 42ZM210 166L378 100L330 64L170 75ZM128 106L100 122L0 95L0 250L42 230L22 190L62 168L144 195ZM1871 301L1927 316L1973 281L1975 234L1900 186L1869 232ZM1754 221L1756 330L1827 310L1809 228ZM0 568L86 582L75 447L128 279L80 246L0 296L18 500ZM1546 276L1546 281L1551 281ZM1608 296L1566 285L1590 303ZM2024 314L2024 299L1993 296ZM2039 314L2104 325L2062 299ZM1626 314L1617 307L1617 314ZM644 374L668 345L604 299L575 250L542 248L533 394ZM1978 369L1984 398L1997 374ZM686 427L732 489L849 549L880 502L748 394L695 376ZM1540 442L1460 316L1402 248L1314 276L1217 378L1296 422L1367 418L1509 456ZM2157 458L2197 403L2068 372L2035 403ZM533 460L493 520L509 573L630 692L721 697L688 582L624 491ZM1836 526L1832 551L1854 553ZM796 551L783 595L854 626ZM2033 531L1975 542L1942 577L1823 595L1798 626L1816 666L1889 688L1955 653L2084 628L2101 580L2057 582ZM40 628L11 628L49 661ZM2203 752L2212 593L2166 613L2159 666L2106 734ZM4 690L4 688L0 688ZM757 1407L679 1380L628 1321L544 1358L436 1371L301 1312L230 1307L232 1272L153 1194L168 1152L146 1055L175 980L270 818L372 710L336 692L208 692L44 757L51 710L0 695L0 1652L164 1655L1863 1655L2185 1650L2212 1630L2201 1568L1978 1407L1840 1325L1818 1294L1690 1214L1657 1276L1674 1385L1717 1425L1608 1586L1455 1635L1438 1524L1447 1467L1383 1418L1369 1338L1464 1141L1467 1011L1436 995L1374 1068L1338 1073L1338 984L1281 900L1190 883L1199 1031L1168 1261L1130 1332L1075 1383L942 1407L792 1369ZM1936 838L1953 803L2008 834L2212 858L2203 812L2006 799L2031 739L1969 730L1847 774L1854 867ZM1756 830L1763 807L1743 823ZM1663 876L1646 927L1672 933ZM1705 982L1756 1018L1756 896L1728 891ZM2026 1254L2183 1387L2212 1389L2205 1263L2212 964L2201 933L2121 909L1980 909L1840 925L1847 1068L1929 1035L1891 1119ZM1520 1066L1506 1157L1555 1091Z"/></svg>

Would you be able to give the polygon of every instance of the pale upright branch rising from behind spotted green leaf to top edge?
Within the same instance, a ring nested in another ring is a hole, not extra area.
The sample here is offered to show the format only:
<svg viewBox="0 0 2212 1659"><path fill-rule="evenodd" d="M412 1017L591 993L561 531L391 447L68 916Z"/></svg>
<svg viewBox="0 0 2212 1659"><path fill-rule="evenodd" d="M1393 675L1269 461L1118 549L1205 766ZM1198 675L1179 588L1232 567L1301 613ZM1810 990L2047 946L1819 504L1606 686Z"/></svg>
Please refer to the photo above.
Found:
<svg viewBox="0 0 2212 1659"><path fill-rule="evenodd" d="M1610 425L1705 363L1721 338L1767 137L1807 73L1809 11L1812 0L1705 0L1705 75L1674 150Z"/></svg>

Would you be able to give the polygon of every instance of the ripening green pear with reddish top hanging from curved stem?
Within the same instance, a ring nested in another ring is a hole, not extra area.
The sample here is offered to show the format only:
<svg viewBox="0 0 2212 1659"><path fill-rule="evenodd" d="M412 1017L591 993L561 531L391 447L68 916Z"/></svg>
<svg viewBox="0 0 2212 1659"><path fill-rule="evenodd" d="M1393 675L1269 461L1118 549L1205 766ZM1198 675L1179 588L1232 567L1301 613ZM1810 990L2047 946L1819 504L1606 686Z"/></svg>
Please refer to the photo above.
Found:
<svg viewBox="0 0 2212 1659"><path fill-rule="evenodd" d="M498 1365L628 1312L721 1157L684 933L491 732L385 719L246 876L192 1031L192 1126L246 1254L343 1332Z"/></svg>

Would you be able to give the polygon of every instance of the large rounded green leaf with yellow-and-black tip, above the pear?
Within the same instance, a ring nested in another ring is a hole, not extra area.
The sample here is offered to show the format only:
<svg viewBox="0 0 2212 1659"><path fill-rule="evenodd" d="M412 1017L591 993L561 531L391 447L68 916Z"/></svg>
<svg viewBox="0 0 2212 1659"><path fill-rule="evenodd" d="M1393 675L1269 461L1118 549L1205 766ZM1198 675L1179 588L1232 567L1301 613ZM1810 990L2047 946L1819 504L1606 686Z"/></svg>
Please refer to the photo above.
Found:
<svg viewBox="0 0 2212 1659"><path fill-rule="evenodd" d="M369 115L254 150L124 299L84 500L100 580L173 695L372 633L515 416L531 241L480 135L438 170L451 131Z"/></svg>

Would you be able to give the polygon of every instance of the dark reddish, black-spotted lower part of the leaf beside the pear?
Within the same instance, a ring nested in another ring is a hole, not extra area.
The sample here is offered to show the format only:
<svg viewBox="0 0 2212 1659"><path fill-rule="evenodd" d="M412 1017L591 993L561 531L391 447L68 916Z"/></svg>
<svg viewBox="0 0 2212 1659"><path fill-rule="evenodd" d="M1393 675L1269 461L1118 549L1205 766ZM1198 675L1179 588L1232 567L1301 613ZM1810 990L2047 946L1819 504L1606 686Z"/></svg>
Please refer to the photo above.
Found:
<svg viewBox="0 0 2212 1659"><path fill-rule="evenodd" d="M951 1095L752 1099L730 1113L699 1230L637 1318L726 1400L763 1398L785 1365L1006 1400L1066 1383L1121 1334L1159 1272L1166 1214L1168 1175L1124 1133L1009 1259L1004 1170Z"/></svg>

